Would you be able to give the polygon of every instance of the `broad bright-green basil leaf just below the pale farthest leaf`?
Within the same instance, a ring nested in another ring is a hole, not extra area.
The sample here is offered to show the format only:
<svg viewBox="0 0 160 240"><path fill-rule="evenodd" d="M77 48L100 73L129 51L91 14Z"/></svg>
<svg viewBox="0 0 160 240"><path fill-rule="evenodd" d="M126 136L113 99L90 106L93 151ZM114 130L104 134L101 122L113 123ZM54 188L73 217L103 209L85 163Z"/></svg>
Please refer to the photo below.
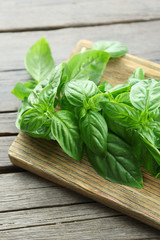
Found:
<svg viewBox="0 0 160 240"><path fill-rule="evenodd" d="M98 84L110 55L98 50L77 53L68 61L68 81L90 80Z"/></svg>

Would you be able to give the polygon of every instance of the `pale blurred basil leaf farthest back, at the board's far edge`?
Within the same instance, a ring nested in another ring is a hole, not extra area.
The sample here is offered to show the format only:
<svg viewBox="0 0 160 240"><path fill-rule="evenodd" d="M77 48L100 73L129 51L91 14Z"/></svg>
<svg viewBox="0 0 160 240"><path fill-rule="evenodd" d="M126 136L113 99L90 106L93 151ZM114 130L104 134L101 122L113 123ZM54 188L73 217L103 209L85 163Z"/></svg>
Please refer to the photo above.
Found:
<svg viewBox="0 0 160 240"><path fill-rule="evenodd" d="M92 49L103 50L109 53L112 58L122 57L128 52L127 46L116 41L98 41L93 43Z"/></svg>

